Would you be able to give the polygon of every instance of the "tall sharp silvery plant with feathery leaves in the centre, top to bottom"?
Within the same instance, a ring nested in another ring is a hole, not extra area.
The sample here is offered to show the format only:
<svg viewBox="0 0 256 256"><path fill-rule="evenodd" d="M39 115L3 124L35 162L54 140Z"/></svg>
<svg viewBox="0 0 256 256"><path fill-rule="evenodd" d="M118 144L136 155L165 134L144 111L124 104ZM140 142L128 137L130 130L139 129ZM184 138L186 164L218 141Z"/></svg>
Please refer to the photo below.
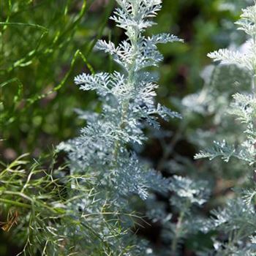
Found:
<svg viewBox="0 0 256 256"><path fill-rule="evenodd" d="M80 118L86 120L86 127L81 129L78 138L59 145L59 150L68 152L72 175L83 173L92 177L92 195L85 194L80 197L78 189L73 195L78 197L78 202L73 201L72 207L79 206L82 214L98 214L99 217L93 225L94 230L109 237L111 229L129 230L130 227L135 227L134 221L129 219L129 214L125 214L133 211L128 203L129 197L138 195L146 200L152 190L166 193L170 189L170 181L140 162L135 151L128 149L128 145L132 148L146 140L143 132L146 124L159 129L159 117L165 120L181 117L178 113L155 103L158 85L156 76L148 70L148 67L157 67L163 59L157 50L159 43L182 41L171 34L143 36L143 31L154 25L151 18L161 9L162 1L116 2L118 8L111 19L116 21L118 27L124 29L127 39L119 45L99 40L96 49L109 53L118 65L118 70L112 73L99 72L95 75L83 73L75 78L75 83L81 90L97 92L102 101L102 112L76 110ZM72 186L83 187L86 183L80 180ZM112 213L110 222L105 221L108 217L102 214L102 208ZM93 222L93 219L91 220ZM121 239L116 240L116 235L112 241L108 239L114 255L119 255L120 250L126 248L129 241L132 241L131 252L124 255L144 255L151 252L151 249L142 246L135 236L127 237L127 230L121 231L124 233Z"/></svg>

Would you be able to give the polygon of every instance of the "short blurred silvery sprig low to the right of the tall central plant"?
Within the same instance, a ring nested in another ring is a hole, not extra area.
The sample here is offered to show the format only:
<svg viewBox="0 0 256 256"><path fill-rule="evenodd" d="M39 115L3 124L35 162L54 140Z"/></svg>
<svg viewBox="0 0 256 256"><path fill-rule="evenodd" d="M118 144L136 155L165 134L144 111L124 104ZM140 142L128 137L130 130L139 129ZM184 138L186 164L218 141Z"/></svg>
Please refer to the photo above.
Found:
<svg viewBox="0 0 256 256"><path fill-rule="evenodd" d="M157 255L182 255L181 244L185 239L206 230L205 218L198 214L210 195L209 184L206 181L173 176L170 178L170 207L167 212L165 203L151 195L146 201L147 216L153 223L162 227L162 248Z"/></svg>

